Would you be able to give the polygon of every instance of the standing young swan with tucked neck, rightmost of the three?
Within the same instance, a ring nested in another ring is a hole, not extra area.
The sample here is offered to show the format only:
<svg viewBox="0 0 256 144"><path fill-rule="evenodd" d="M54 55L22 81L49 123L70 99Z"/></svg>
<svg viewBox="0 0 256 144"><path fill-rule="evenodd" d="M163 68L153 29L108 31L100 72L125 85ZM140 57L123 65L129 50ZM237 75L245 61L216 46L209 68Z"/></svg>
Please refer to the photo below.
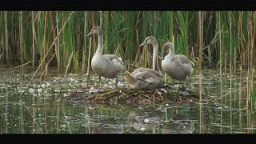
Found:
<svg viewBox="0 0 256 144"><path fill-rule="evenodd" d="M167 54L167 50L169 53ZM170 76L173 80L184 81L189 79L194 71L194 63L185 55L176 54L174 44L166 42L162 46L162 71Z"/></svg>

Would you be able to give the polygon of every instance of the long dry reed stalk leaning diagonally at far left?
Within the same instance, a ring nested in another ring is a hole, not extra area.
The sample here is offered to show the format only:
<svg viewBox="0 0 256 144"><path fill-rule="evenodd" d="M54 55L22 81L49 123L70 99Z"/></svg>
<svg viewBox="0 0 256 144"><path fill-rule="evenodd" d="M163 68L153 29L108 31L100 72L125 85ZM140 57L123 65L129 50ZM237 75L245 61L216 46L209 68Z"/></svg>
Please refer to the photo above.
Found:
<svg viewBox="0 0 256 144"><path fill-rule="evenodd" d="M35 70L35 72L34 72L34 74L33 74L32 78L30 79L30 82L31 82L31 81L32 81L32 79L34 78L35 74L37 74L37 72L38 72L38 70L39 70L40 66L42 65L42 62L46 59L46 56L47 56L47 54L50 52L51 48L54 46L55 41L56 41L56 40L57 40L57 38L58 38L58 35L59 35L59 34L61 34L62 30L64 29L64 26L66 26L66 23L69 21L69 19L70 19L71 15L72 15L73 13L74 13L74 11L72 11L72 13L70 14L69 18L67 18L66 22L65 22L65 23L64 23L64 25L62 26L62 29L61 29L61 30L59 30L59 32L58 32L58 34L57 34L56 38L54 38L54 42L51 44L51 46L50 46L49 50L47 51L46 55L44 56L44 58L42 58L42 61L40 62L39 66L38 66L38 69L37 69L37 70ZM30 82L26 85L25 90L23 91L23 93L22 93L21 97L23 96L23 94L25 94L25 91L26 91L27 87L30 85Z"/></svg>

